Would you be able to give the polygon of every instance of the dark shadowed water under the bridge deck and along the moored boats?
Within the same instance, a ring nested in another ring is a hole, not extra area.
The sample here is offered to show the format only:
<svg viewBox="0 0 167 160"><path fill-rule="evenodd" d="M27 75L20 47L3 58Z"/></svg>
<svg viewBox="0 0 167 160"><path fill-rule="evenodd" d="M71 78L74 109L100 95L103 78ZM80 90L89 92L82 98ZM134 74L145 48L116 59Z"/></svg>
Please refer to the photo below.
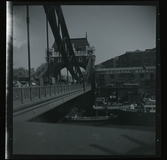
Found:
<svg viewBox="0 0 167 160"><path fill-rule="evenodd" d="M67 110L60 110L62 106L52 109L42 115L33 118L29 122L39 122L39 123L52 123L52 124L61 124L63 125L80 125L80 126L93 126L93 127L105 127L105 128L119 128L119 129L130 129L130 130L139 130L139 131L150 131L155 132L155 126L149 125L139 125L139 124L129 124L122 123L117 118L111 119L109 121L101 121L101 122L63 122L63 118L68 115L72 116L77 113L78 116L95 116L95 112L89 109L84 109L86 112L81 112L80 110L76 110L72 105L70 106L68 103L64 105L64 108L67 107ZM81 108L82 110L82 108Z"/></svg>

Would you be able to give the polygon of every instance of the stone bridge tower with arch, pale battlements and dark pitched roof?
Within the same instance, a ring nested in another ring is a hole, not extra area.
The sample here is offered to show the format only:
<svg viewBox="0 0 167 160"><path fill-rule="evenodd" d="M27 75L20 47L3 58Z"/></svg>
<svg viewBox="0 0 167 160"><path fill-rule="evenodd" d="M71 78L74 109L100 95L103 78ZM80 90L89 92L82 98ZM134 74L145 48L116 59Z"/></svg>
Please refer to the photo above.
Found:
<svg viewBox="0 0 167 160"><path fill-rule="evenodd" d="M95 61L95 49L90 47L87 37L86 38L73 38L70 39L73 51L79 67L85 70L84 78L86 82L91 83L92 73L94 70L94 61ZM66 46L65 49L67 50ZM68 52L68 51L67 51ZM68 54L69 61L72 59L72 56ZM66 67L61 54L59 53L56 42L54 42L52 48L50 49L50 76L54 77L56 82L58 77L60 77L60 71ZM76 66L73 66L74 70ZM47 77L47 72L43 75L44 79Z"/></svg>

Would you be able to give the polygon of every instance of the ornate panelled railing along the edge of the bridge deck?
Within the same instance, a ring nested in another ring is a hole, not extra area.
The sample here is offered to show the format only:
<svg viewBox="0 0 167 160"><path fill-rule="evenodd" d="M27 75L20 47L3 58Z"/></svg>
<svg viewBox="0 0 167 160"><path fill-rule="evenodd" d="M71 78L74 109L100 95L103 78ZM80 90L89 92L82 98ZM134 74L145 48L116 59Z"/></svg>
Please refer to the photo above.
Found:
<svg viewBox="0 0 167 160"><path fill-rule="evenodd" d="M90 85L87 84L87 87L90 87ZM20 106L34 101L56 97L78 89L83 89L83 84L13 88L13 106Z"/></svg>

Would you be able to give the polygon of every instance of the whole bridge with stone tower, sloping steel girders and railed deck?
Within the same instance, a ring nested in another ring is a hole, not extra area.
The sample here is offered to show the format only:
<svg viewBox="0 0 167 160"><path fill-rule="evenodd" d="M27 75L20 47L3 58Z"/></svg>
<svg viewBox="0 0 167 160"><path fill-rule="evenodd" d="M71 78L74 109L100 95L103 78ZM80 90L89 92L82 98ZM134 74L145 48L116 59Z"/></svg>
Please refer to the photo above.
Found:
<svg viewBox="0 0 167 160"><path fill-rule="evenodd" d="M70 39L61 6L43 4L43 8L46 13L47 28L46 63L27 77L30 82L32 78L37 80L39 86L13 88L14 121L28 121L35 118L78 96L91 92L94 85L95 49L88 43L87 35L86 38ZM29 25L29 18L27 15L27 25ZM48 23L55 39L50 49ZM84 74L80 67L85 69ZM51 78L58 79L63 68L70 72L73 80L77 80L77 84L50 83Z"/></svg>

